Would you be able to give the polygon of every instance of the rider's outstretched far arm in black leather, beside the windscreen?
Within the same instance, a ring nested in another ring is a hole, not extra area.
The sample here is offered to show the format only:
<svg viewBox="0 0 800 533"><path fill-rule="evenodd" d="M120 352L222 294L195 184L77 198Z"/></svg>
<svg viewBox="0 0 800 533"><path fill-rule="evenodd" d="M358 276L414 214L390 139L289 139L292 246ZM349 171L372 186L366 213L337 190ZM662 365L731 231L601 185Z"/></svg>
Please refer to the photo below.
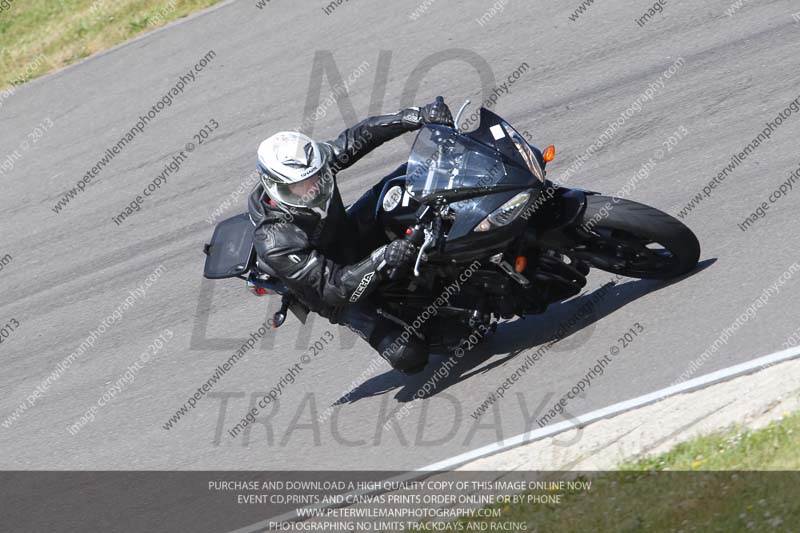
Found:
<svg viewBox="0 0 800 533"><path fill-rule="evenodd" d="M423 120L417 107L364 119L325 143L331 150L331 164L337 171L345 169L386 141L419 129Z"/></svg>

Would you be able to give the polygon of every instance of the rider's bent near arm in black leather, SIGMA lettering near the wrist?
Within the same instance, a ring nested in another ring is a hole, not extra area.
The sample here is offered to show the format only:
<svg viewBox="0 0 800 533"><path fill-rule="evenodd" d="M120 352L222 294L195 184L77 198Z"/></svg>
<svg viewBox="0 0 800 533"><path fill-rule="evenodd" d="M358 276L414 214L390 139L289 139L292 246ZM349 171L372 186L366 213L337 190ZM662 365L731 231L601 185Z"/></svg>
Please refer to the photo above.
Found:
<svg viewBox="0 0 800 533"><path fill-rule="evenodd" d="M326 259L305 232L289 223L266 223L256 229L259 258L298 294L314 292L329 305L356 303L378 286L383 248L359 263L342 266Z"/></svg>

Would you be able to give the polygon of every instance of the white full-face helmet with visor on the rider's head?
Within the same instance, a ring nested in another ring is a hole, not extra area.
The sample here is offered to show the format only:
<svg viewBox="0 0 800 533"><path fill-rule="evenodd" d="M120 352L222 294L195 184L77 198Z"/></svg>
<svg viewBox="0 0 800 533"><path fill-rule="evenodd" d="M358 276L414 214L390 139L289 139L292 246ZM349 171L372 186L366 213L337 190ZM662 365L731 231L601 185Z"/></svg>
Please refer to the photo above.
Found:
<svg viewBox="0 0 800 533"><path fill-rule="evenodd" d="M333 172L319 143L302 133L276 133L258 147L258 169L264 190L281 209L327 216Z"/></svg>

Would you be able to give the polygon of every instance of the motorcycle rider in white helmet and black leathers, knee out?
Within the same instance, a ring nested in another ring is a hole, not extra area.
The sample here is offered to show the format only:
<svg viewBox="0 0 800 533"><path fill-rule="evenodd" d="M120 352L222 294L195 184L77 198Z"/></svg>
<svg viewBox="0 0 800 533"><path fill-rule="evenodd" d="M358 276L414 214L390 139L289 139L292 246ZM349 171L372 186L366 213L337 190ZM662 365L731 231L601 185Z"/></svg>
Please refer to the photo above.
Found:
<svg viewBox="0 0 800 533"><path fill-rule="evenodd" d="M441 97L423 107L367 118L328 142L297 132L276 133L258 147L261 182L248 202L259 268L280 279L309 310L356 331L407 374L425 367L427 344L417 335L401 341L401 322L379 315L370 297L392 269L407 275L417 256L417 248L406 240L387 243L374 220L384 184L405 174L405 165L347 210L336 174L424 124L453 126Z"/></svg>

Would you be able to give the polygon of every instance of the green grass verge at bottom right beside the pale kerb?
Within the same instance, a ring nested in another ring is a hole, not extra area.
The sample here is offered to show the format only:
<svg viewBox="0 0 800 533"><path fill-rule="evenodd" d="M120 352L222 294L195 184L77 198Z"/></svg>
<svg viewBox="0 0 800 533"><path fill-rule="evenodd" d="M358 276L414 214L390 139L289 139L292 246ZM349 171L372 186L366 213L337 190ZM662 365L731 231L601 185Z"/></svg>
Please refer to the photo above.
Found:
<svg viewBox="0 0 800 533"><path fill-rule="evenodd" d="M528 531L800 531L800 414L693 439L589 478L560 504L501 505ZM767 472L765 472L767 471ZM541 494L541 493L538 493Z"/></svg>

